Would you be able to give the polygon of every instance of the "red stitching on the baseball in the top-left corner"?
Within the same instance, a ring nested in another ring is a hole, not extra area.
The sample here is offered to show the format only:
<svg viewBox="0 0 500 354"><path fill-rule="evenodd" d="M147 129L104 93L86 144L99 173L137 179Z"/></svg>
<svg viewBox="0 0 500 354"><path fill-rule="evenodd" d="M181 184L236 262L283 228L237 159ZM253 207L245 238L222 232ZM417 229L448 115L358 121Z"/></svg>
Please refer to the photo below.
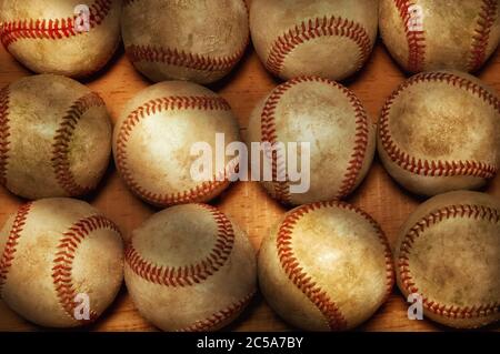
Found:
<svg viewBox="0 0 500 354"><path fill-rule="evenodd" d="M102 23L111 10L112 0L96 0L90 7L90 28ZM82 34L74 30L76 16L62 19L22 19L0 24L0 41L6 48L22 39L62 39Z"/></svg>

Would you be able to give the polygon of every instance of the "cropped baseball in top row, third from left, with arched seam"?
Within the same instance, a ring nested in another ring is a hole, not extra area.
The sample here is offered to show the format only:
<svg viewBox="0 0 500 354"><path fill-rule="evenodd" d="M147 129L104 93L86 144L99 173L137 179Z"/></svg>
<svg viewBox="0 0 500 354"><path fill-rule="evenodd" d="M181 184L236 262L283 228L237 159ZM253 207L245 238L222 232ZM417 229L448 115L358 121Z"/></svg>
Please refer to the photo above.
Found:
<svg viewBox="0 0 500 354"><path fill-rule="evenodd" d="M343 80L370 57L377 11L373 0L252 0L250 31L272 74Z"/></svg>

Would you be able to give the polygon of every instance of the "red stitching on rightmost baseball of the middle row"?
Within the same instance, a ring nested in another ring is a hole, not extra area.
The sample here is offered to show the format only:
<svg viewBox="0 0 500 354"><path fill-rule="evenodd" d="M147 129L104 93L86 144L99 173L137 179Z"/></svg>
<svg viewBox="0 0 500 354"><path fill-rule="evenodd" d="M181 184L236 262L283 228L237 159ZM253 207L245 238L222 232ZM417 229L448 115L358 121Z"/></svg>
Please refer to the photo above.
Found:
<svg viewBox="0 0 500 354"><path fill-rule="evenodd" d="M401 169L411 173L426 175L426 176L453 176L453 175L471 175L482 179L491 179L497 174L497 166L490 165L483 162L476 161L439 161L439 160L420 160L403 152L392 140L391 132L389 130L389 115L392 104L396 99L406 89L426 82L444 82L453 85L454 88L463 89L471 94L482 99L487 104L491 105L497 112L500 113L500 100L492 93L479 84L458 75L444 72L430 72L420 73L408 81L402 83L398 90L387 100L386 105L382 109L382 115L380 118L380 139L386 153L390 159L397 163Z"/></svg>

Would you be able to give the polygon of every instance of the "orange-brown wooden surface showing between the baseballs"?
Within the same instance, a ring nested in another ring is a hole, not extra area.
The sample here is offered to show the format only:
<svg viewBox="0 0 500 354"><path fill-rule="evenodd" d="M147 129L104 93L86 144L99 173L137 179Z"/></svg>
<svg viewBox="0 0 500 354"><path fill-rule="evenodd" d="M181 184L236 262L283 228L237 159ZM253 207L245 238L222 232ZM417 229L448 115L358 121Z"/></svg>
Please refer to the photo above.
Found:
<svg viewBox="0 0 500 354"><path fill-rule="evenodd" d="M31 74L17 63L0 45L0 87ZM480 78L500 92L500 52L489 61ZM366 68L354 78L343 82L352 89L364 103L373 121L377 121L386 98L404 80L403 73L390 59L379 41ZM112 120L116 121L124 103L143 88L151 84L137 71L123 54L117 53L110 64L98 75L83 83L97 91L107 102ZM253 49L249 47L241 63L233 72L210 88L229 101L238 115L241 133L244 136L248 118L256 102L269 93L279 82L259 62ZM500 176L486 190L500 196ZM121 229L126 239L156 210L134 198L120 181L113 165L103 179L99 190L88 201L102 210ZM386 231L393 244L397 231L421 200L402 191L384 172L376 158L373 165L353 195L348 199L370 213ZM0 188L0 225L23 201ZM261 237L277 222L284 209L271 200L256 182L238 182L219 199L213 201L232 216L249 234L256 250ZM362 260L360 260L362 266ZM447 330L429 321L409 321L407 304L394 287L392 296L363 324L361 331L442 331ZM41 330L27 323L11 312L0 301L0 331ZM154 331L134 310L123 286L114 304L92 326L91 331ZM234 331L286 331L291 330L281 321L258 295L244 314L227 330ZM500 324L489 327L500 330Z"/></svg>

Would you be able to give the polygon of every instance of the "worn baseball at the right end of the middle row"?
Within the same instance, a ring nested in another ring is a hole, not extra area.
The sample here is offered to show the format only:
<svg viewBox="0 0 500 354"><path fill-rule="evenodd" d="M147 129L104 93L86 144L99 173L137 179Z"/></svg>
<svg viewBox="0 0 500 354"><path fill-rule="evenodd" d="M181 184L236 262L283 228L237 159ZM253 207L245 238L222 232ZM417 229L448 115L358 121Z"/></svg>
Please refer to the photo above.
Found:
<svg viewBox="0 0 500 354"><path fill-rule="evenodd" d="M387 100L378 150L389 174L413 193L480 188L500 163L500 100L469 74L417 74Z"/></svg>

